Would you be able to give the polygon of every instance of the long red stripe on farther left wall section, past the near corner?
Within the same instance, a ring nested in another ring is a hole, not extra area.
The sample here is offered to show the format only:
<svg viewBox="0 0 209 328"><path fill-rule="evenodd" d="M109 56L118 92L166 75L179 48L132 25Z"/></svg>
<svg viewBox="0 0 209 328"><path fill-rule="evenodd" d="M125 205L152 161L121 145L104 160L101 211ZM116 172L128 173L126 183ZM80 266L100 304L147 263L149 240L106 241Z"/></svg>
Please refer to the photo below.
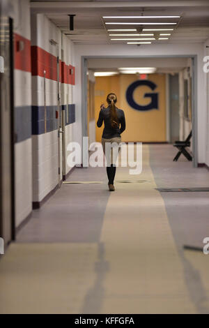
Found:
<svg viewBox="0 0 209 328"><path fill-rule="evenodd" d="M57 81L56 57L53 54L37 45L32 45L31 63L32 75L45 76L49 80ZM59 81L66 84L75 84L75 67L68 66L59 60Z"/></svg>

